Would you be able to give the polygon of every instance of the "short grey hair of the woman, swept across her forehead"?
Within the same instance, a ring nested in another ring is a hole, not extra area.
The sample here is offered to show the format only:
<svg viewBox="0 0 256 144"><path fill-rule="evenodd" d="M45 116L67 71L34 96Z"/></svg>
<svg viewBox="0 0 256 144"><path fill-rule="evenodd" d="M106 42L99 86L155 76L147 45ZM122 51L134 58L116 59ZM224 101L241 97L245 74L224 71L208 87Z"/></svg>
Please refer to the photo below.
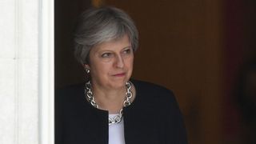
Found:
<svg viewBox="0 0 256 144"><path fill-rule="evenodd" d="M74 56L88 64L91 48L128 34L132 49L138 49L138 30L123 10L114 7L90 8L78 18L74 31Z"/></svg>

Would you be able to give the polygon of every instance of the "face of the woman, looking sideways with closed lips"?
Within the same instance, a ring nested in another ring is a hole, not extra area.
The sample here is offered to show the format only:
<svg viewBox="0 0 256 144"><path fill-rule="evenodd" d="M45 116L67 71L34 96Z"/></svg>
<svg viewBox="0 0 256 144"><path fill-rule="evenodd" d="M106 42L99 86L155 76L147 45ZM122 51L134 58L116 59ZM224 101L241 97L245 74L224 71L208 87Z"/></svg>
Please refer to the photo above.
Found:
<svg viewBox="0 0 256 144"><path fill-rule="evenodd" d="M104 89L123 88L133 71L134 52L128 35L94 46L89 54L93 86Z"/></svg>

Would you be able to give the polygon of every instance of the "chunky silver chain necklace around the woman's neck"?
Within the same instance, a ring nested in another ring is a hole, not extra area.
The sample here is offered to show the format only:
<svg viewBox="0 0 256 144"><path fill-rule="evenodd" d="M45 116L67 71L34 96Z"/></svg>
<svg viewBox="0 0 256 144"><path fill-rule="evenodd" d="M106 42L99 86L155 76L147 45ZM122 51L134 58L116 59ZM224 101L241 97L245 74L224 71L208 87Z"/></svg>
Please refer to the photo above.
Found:
<svg viewBox="0 0 256 144"><path fill-rule="evenodd" d="M133 93L130 90L131 89L131 82L126 82L126 98L123 101L123 106L130 106L130 99L133 97ZM94 94L91 90L91 83L90 81L86 82L86 88L85 88L85 94L87 100L90 102L92 106L95 108L99 108L98 104L94 100ZM119 111L119 114L114 116L114 118L109 118L109 125L114 124L114 123L119 123L122 120L122 109Z"/></svg>

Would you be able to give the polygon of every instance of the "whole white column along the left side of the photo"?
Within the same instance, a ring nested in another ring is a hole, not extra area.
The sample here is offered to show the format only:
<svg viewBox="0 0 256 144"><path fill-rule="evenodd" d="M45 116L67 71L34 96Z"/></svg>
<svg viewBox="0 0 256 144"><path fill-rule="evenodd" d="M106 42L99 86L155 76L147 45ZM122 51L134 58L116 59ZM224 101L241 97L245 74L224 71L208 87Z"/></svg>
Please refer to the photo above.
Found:
<svg viewBox="0 0 256 144"><path fill-rule="evenodd" d="M50 0L0 2L0 143L53 144L53 14Z"/></svg>

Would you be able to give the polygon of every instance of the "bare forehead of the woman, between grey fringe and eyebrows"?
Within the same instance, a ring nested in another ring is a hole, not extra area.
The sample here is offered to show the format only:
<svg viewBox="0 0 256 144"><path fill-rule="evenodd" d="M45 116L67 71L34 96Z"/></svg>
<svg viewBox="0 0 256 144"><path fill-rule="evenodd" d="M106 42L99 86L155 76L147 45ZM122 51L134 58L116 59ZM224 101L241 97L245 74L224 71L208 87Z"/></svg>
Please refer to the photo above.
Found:
<svg viewBox="0 0 256 144"><path fill-rule="evenodd" d="M130 38L127 34L125 34L122 38L110 40L107 42L102 42L96 46L94 46L91 52L97 52L101 50L122 50L126 47L130 47Z"/></svg>

